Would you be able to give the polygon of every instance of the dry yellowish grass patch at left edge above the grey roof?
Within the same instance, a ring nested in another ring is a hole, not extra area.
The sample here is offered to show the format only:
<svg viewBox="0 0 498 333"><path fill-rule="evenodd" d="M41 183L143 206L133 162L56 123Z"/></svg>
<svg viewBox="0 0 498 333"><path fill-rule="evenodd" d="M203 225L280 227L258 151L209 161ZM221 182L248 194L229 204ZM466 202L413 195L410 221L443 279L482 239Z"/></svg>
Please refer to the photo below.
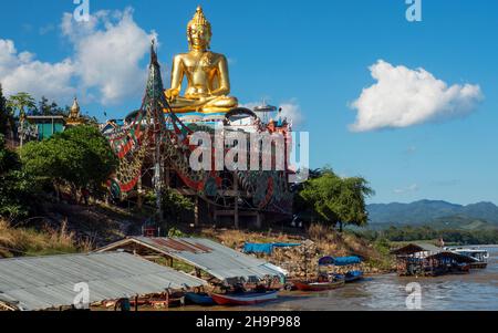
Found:
<svg viewBox="0 0 498 333"><path fill-rule="evenodd" d="M76 240L65 222L58 230L49 227L35 230L13 228L0 220L0 258L87 252L91 248L90 241Z"/></svg>

